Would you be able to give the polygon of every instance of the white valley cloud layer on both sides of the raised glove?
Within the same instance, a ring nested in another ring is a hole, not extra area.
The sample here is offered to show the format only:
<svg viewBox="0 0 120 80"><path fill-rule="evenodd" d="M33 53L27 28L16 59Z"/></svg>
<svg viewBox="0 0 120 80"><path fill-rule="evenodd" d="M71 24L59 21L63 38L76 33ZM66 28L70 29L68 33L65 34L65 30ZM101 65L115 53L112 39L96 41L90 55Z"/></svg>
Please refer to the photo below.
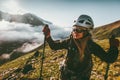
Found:
<svg viewBox="0 0 120 80"><path fill-rule="evenodd" d="M69 36L70 28L56 27L55 25L49 26L51 35L54 39L61 39ZM17 40L32 40L43 42L43 26L31 27L29 24L23 23L9 23L7 21L0 21L0 41L17 41ZM38 42L37 41L37 42Z"/></svg>

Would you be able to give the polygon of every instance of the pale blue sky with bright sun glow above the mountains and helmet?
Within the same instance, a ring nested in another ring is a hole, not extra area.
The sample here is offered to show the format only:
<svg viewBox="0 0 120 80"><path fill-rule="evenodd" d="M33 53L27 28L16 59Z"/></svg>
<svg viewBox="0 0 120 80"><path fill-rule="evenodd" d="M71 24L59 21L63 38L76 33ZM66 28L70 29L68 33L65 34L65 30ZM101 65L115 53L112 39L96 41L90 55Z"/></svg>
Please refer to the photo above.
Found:
<svg viewBox="0 0 120 80"><path fill-rule="evenodd" d="M61 27L71 27L81 14L92 17L95 27L120 20L120 0L0 0L0 11L32 13Z"/></svg>

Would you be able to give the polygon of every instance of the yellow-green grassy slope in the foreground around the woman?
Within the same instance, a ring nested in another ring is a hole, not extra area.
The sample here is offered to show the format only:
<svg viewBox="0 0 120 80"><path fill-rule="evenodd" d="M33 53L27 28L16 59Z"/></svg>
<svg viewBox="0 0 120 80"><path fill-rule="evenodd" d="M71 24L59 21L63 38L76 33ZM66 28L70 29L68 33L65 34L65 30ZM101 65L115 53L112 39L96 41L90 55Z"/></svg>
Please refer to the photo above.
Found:
<svg viewBox="0 0 120 80"><path fill-rule="evenodd" d="M100 44L105 50L108 50L108 40L96 41ZM120 50L120 49L119 49ZM40 54L42 49L39 50ZM59 63L65 57L66 50L52 51L49 46L45 50L45 60L43 67L43 77L44 80L50 80L51 77L58 79L59 77ZM41 56L30 59L33 56L34 52L28 53L24 56L17 58L11 62L8 62L0 66L0 78L11 77L16 78L16 80L37 80L39 78L40 72L40 61ZM34 67L34 70L29 71L28 74L23 74L21 71L15 72L16 69L23 69L26 61L30 59L30 64ZM93 55L93 71L91 75L91 80L103 80L106 63L102 62L99 58ZM10 76L11 74L11 76ZM109 70L109 80L120 80L120 55L117 61L110 65Z"/></svg>

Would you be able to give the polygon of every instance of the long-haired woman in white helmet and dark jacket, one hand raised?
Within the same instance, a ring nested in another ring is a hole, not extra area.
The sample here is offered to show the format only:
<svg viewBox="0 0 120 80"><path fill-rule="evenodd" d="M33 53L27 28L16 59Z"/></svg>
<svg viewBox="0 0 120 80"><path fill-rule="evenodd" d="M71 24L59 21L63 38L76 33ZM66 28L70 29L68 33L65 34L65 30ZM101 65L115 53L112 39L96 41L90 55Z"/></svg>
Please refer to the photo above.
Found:
<svg viewBox="0 0 120 80"><path fill-rule="evenodd" d="M75 24L70 37L63 41L54 41L50 36L50 29L45 25L43 32L53 50L67 49L67 56L61 66L61 80L89 80L92 71L92 56L94 54L107 63L113 63L118 56L117 46L112 46L105 52L93 42L90 31L93 20L88 15L81 15ZM111 42L114 43L114 42Z"/></svg>

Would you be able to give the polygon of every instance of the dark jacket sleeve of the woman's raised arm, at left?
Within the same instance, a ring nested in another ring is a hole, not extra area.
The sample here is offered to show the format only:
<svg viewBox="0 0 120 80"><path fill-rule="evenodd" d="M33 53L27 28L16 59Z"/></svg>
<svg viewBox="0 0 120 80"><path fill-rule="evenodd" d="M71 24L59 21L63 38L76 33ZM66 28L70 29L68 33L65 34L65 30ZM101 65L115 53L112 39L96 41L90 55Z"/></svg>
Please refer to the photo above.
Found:
<svg viewBox="0 0 120 80"><path fill-rule="evenodd" d="M69 39L54 41L51 37L47 38L47 42L48 42L50 48L53 50L67 49L68 41L69 41Z"/></svg>

